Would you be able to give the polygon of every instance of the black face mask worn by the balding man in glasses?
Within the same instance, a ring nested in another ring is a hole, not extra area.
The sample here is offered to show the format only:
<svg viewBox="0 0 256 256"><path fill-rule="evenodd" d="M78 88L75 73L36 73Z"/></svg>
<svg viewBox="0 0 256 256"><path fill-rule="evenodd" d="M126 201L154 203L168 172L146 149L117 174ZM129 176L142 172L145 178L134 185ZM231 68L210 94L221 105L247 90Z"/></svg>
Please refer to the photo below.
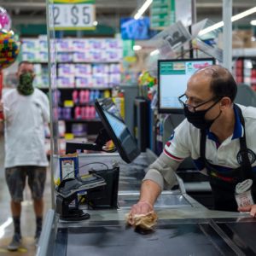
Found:
<svg viewBox="0 0 256 256"><path fill-rule="evenodd" d="M184 105L184 115L188 119L189 123L194 125L196 128L203 129L203 130L209 129L212 126L213 122L216 119L218 119L218 117L221 114L221 111L218 113L218 116L215 119L212 119L212 120L205 119L205 115L219 101L220 101L220 99L217 102L214 102L210 108L207 108L207 109L204 109L204 110L195 111L195 112L189 111L188 106Z"/></svg>

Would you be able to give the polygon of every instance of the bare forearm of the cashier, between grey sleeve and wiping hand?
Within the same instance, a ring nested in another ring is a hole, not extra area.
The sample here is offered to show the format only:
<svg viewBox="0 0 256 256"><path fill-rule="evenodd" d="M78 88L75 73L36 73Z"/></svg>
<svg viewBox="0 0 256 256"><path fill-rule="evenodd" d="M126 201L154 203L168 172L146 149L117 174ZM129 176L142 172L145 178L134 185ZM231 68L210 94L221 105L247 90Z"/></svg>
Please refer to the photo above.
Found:
<svg viewBox="0 0 256 256"><path fill-rule="evenodd" d="M152 180L144 180L141 188L141 196L139 201L146 201L149 204L154 206L154 202L157 197L160 195L161 189L158 183L155 183Z"/></svg>

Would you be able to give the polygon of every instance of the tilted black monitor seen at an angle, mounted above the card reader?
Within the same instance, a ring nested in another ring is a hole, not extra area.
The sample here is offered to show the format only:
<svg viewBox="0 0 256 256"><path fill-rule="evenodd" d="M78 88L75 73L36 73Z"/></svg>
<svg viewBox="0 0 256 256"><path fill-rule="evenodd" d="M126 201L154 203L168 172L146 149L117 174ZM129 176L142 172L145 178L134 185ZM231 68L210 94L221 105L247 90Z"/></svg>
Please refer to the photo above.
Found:
<svg viewBox="0 0 256 256"><path fill-rule="evenodd" d="M102 119L102 125L108 132L108 136L113 140L120 157L127 163L137 158L140 151L137 148L136 140L131 136L131 132L125 125L112 99L96 100L95 108Z"/></svg>

